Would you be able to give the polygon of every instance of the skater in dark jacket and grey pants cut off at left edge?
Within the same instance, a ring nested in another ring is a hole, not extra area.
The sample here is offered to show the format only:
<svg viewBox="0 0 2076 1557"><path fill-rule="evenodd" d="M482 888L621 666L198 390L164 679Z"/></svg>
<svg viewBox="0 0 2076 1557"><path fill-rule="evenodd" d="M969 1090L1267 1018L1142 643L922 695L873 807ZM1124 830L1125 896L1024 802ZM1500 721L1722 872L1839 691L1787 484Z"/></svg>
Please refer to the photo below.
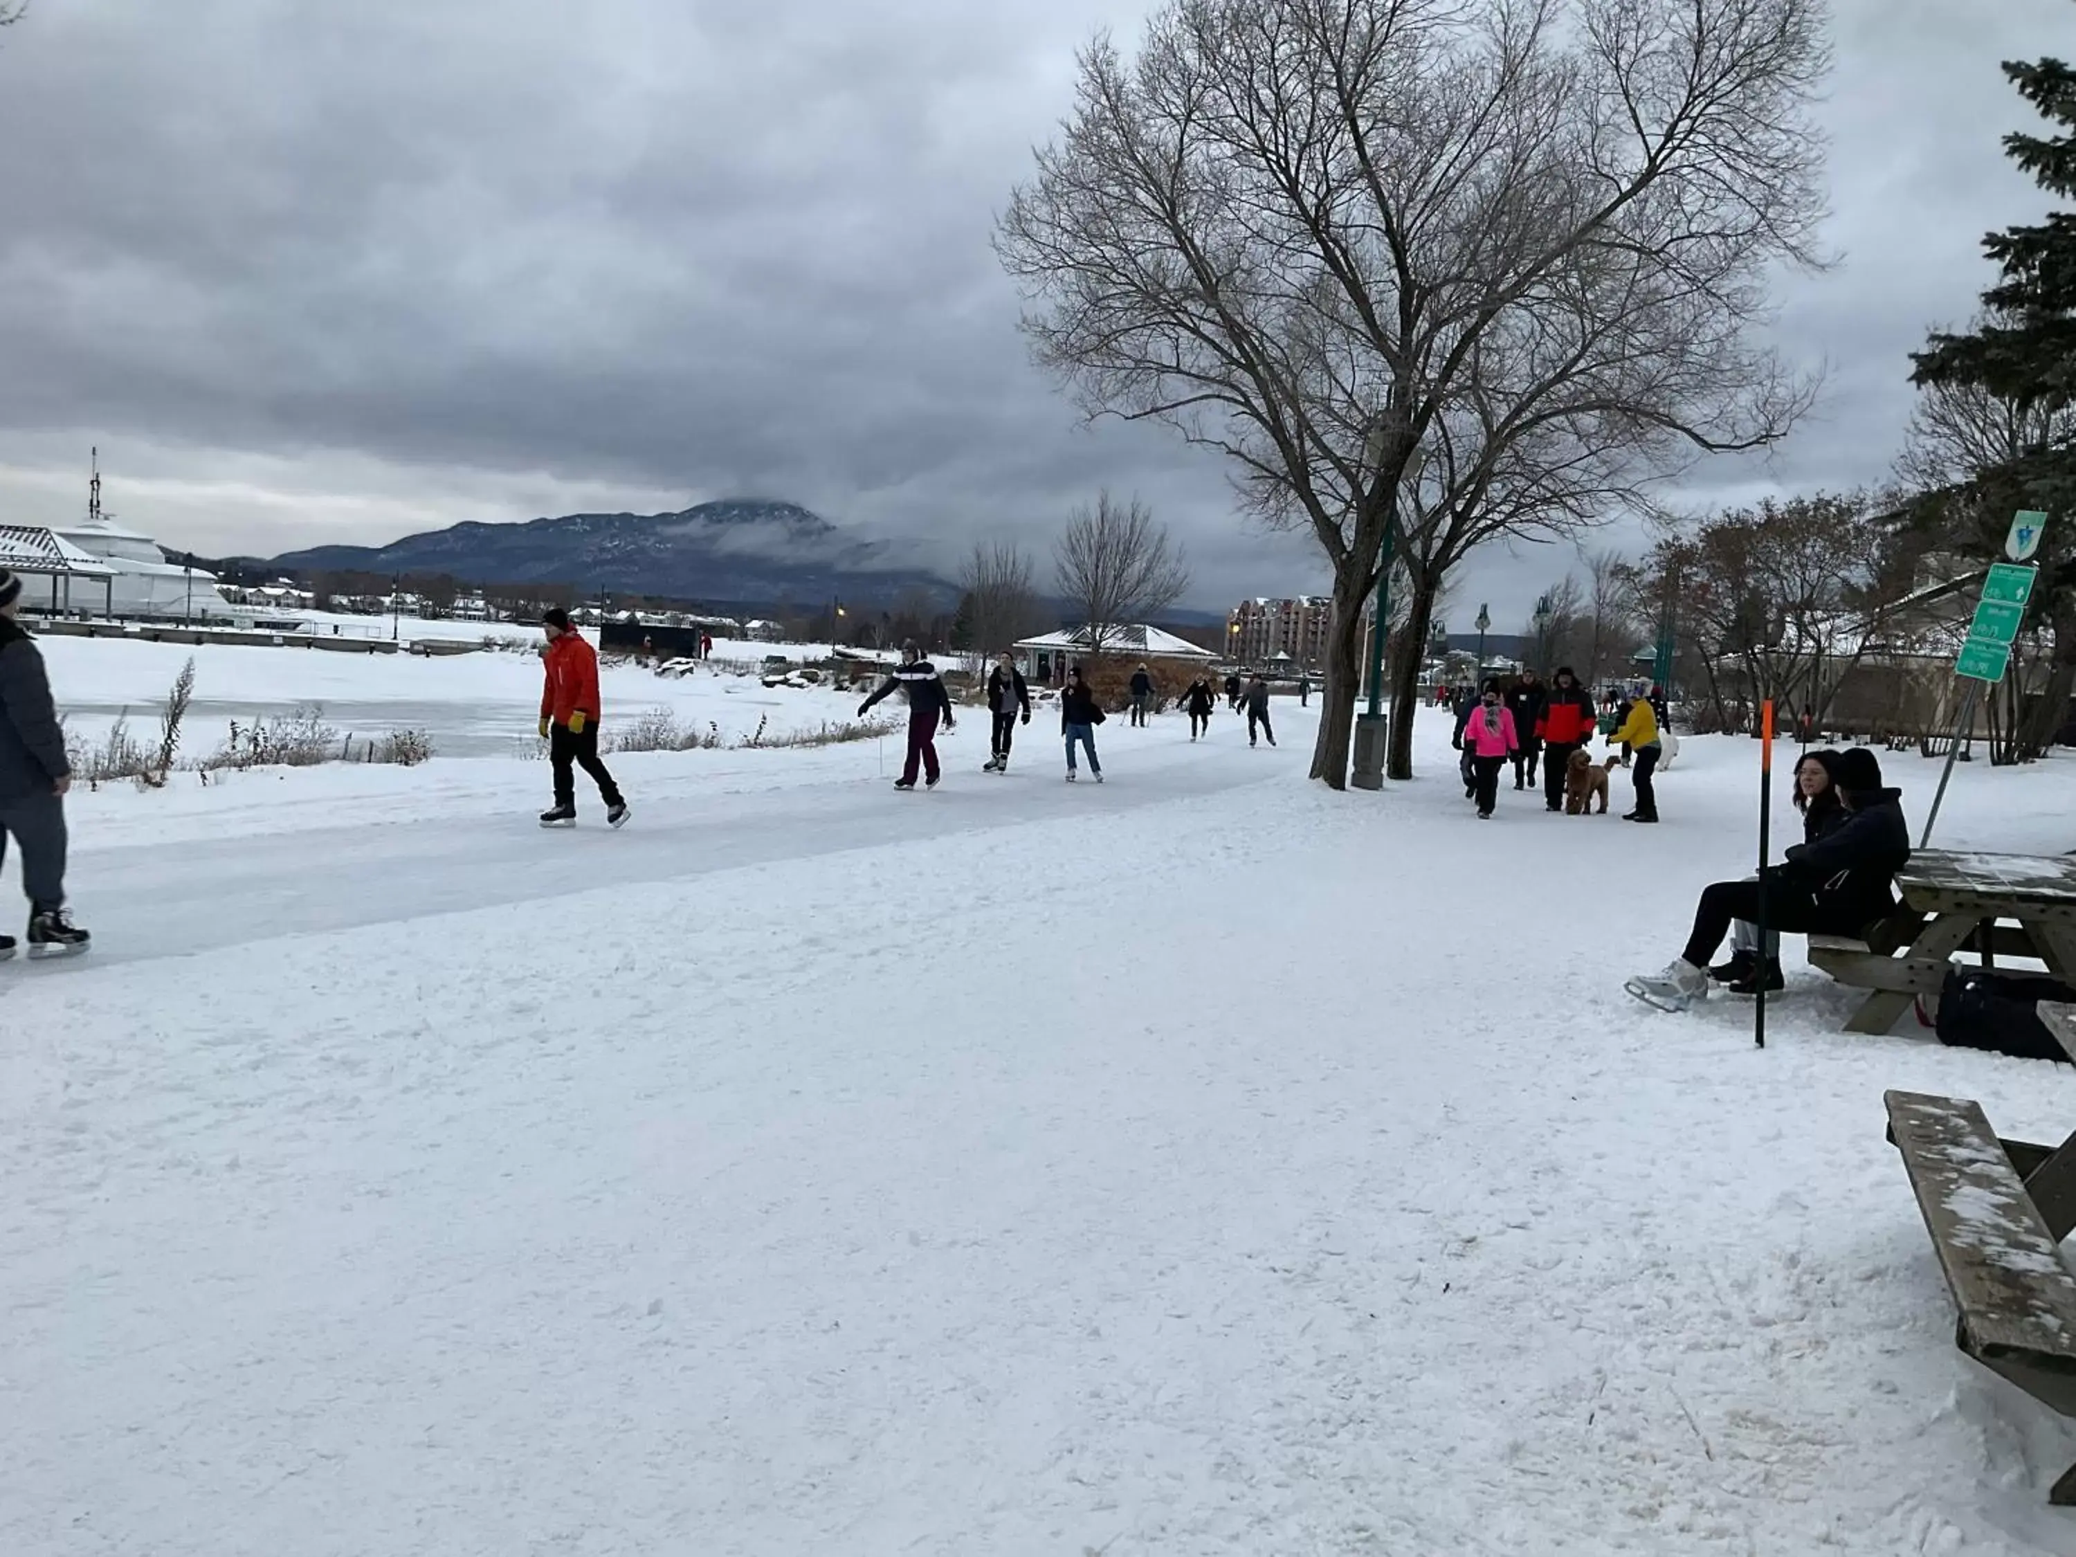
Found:
<svg viewBox="0 0 2076 1557"><path fill-rule="evenodd" d="M0 859L12 837L29 895L29 955L64 957L89 945L64 911L64 793L73 768L44 656L15 621L19 610L21 577L0 567ZM12 955L15 936L0 936L0 961Z"/></svg>

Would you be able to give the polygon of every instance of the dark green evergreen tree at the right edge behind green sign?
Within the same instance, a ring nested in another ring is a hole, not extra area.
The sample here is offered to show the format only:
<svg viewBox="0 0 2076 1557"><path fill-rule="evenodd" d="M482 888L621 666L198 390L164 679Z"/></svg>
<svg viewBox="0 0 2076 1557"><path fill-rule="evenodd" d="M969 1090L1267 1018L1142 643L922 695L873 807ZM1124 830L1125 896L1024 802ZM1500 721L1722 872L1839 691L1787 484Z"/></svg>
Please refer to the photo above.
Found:
<svg viewBox="0 0 2076 1557"><path fill-rule="evenodd" d="M2049 195L2076 199L2076 71L2047 58L2007 62L2003 75L2059 131L2005 135L2005 154ZM1983 318L1968 334L1935 332L1912 355L1912 382L1929 399L1993 403L2024 436L1960 486L1931 494L1920 517L1945 531L1945 544L1985 556L2001 546L2016 509L2047 515L2032 610L2053 625L2055 658L2016 743L2024 760L2053 741L2076 691L2076 212L1991 233L1983 249L2001 272L1983 293Z"/></svg>

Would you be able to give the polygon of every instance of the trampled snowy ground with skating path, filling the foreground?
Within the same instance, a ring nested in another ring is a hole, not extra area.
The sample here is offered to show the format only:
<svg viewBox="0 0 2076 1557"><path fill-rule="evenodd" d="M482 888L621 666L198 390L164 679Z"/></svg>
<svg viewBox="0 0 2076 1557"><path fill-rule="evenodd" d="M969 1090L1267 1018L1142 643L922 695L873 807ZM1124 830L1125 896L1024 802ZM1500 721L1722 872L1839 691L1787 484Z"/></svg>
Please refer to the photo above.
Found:
<svg viewBox="0 0 2076 1557"><path fill-rule="evenodd" d="M1621 994L1748 741L1480 824L1445 716L1385 795L1277 718L627 758L625 832L519 760L81 797L100 949L0 969L0 1551L2076 1547L1881 1138L2076 1075ZM2072 799L1964 768L1939 841Z"/></svg>

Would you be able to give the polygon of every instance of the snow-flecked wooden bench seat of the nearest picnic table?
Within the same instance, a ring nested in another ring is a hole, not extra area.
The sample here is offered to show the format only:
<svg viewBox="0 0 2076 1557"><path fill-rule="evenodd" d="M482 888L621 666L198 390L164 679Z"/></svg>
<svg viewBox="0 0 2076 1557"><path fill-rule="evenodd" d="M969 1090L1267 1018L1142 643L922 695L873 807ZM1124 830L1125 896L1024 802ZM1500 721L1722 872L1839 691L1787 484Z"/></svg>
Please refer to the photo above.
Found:
<svg viewBox="0 0 2076 1557"><path fill-rule="evenodd" d="M2041 1005L2076 1059L2076 1007ZM2076 1418L2076 1133L2061 1146L2001 1140L1968 1098L1887 1092L1889 1140L1904 1158L1954 1293L1954 1345L2059 1416ZM2076 1505L2076 1466L2049 1501Z"/></svg>

